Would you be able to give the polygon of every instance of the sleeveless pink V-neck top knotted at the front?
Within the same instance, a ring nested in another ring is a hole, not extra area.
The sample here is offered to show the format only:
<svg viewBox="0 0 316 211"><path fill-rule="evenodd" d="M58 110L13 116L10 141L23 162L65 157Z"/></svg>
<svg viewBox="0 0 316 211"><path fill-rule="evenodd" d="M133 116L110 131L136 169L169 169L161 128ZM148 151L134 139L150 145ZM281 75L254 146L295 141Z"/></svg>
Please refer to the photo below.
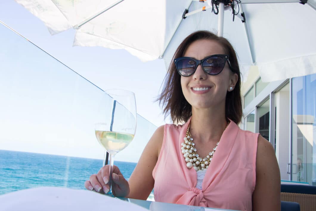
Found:
<svg viewBox="0 0 316 211"><path fill-rule="evenodd" d="M222 134L200 190L196 188L197 173L186 167L181 152L190 121L183 126L166 124L164 127L161 152L153 170L155 201L251 211L258 133L241 130L231 121Z"/></svg>

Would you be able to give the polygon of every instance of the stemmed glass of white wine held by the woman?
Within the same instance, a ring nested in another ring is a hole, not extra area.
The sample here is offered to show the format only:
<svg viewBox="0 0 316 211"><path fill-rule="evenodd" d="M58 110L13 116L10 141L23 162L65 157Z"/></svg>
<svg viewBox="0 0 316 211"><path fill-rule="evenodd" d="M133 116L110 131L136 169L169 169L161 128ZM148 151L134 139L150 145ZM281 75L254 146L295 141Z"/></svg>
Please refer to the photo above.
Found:
<svg viewBox="0 0 316 211"><path fill-rule="evenodd" d="M131 143L136 132L136 102L131 91L111 89L105 91L104 121L95 124L95 136L110 154L109 195L112 195L114 156ZM105 161L103 160L103 165Z"/></svg>

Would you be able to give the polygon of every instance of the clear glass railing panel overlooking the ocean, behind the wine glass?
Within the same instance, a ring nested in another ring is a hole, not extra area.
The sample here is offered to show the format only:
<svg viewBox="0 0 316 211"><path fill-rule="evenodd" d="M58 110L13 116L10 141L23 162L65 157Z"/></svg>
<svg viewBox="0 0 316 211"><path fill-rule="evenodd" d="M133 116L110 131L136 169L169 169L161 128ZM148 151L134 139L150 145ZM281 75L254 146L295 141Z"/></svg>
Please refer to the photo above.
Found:
<svg viewBox="0 0 316 211"><path fill-rule="evenodd" d="M0 90L0 194L84 189L102 166L94 123L104 91L2 23ZM127 179L156 128L137 115L134 140L116 155Z"/></svg>

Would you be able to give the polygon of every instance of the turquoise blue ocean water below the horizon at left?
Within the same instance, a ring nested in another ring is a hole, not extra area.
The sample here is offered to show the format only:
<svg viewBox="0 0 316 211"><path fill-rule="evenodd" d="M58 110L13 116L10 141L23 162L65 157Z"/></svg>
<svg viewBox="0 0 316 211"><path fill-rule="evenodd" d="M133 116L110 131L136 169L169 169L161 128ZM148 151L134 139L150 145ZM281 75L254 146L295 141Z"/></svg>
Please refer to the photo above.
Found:
<svg viewBox="0 0 316 211"><path fill-rule="evenodd" d="M40 186L85 189L103 160L0 150L0 195ZM136 163L114 161L128 180ZM153 191L148 200L153 200Z"/></svg>

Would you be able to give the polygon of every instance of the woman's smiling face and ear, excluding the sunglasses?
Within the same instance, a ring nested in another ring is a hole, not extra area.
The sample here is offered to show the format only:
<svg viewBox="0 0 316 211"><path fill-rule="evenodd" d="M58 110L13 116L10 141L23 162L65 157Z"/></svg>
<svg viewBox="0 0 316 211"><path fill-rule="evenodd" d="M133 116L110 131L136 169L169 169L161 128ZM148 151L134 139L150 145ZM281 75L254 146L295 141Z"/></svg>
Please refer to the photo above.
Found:
<svg viewBox="0 0 316 211"><path fill-rule="evenodd" d="M213 40L196 40L191 43L184 53L184 57L204 59L214 54L225 54L223 47ZM229 87L234 89L238 76L229 69L226 62L224 69L218 75L206 74L201 65L197 66L195 73L189 77L181 76L181 87L185 99L191 104L192 109L206 109L215 106L225 108L225 98ZM195 88L206 90L194 90Z"/></svg>

